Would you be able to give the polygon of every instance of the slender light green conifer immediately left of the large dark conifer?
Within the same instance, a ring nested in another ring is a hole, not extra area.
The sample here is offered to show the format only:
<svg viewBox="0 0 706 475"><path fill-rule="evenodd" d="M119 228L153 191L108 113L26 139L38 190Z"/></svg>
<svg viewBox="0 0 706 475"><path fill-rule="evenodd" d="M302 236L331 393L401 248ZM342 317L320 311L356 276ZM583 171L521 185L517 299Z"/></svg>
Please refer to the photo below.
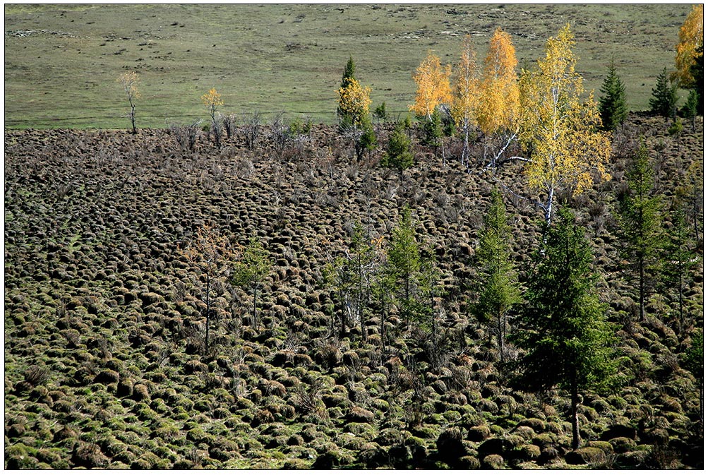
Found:
<svg viewBox="0 0 706 475"><path fill-rule="evenodd" d="M479 261L480 295L474 313L480 321L496 325L501 362L505 361L508 312L520 301L517 275L513 270L508 248L510 239L511 231L503 197L500 192L493 190L476 251Z"/></svg>

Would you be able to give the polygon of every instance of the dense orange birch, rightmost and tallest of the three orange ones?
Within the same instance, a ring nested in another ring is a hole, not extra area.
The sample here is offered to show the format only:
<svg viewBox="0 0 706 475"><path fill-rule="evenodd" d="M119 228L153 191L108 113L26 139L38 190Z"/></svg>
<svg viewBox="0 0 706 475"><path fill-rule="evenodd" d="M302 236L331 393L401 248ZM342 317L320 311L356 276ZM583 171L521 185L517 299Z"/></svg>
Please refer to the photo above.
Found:
<svg viewBox="0 0 706 475"><path fill-rule="evenodd" d="M478 101L478 126L485 137L484 162L490 167L500 158L519 131L520 88L517 83L517 57L510 35L501 28L493 32L484 61Z"/></svg>

